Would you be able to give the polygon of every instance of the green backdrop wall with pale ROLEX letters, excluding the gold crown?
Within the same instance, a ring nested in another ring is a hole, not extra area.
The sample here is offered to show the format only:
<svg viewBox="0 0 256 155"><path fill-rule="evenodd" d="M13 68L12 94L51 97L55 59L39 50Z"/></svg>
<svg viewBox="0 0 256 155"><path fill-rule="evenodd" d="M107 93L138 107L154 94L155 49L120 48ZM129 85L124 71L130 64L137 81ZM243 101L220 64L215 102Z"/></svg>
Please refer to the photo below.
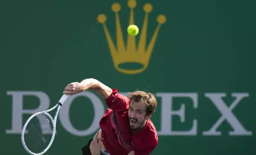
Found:
<svg viewBox="0 0 256 155"><path fill-rule="evenodd" d="M158 107L152 121L159 132L159 145L152 155L255 155L256 2L138 0L133 15L140 32L143 6L153 5L147 44L157 27L157 16L163 14L167 19L159 30L148 68L139 74L124 74L114 68L103 26L97 21L99 14L107 16L106 25L116 44L111 11L115 2L121 5L119 16L126 39L130 15L126 0L0 2L0 154L27 154L20 132L21 123L31 113L21 110L39 106L37 91L45 99L40 105L48 108L56 104L68 83L93 77L120 92L140 89L156 93ZM107 106L93 92L83 95L70 99L71 106L63 106L67 111L61 110L55 140L45 155L79 155L95 134L93 119L100 119ZM171 96L176 97L171 100ZM237 105L233 104L236 100ZM232 104L233 115L227 110ZM171 109L182 107L184 120L171 113ZM219 135L203 134L222 113L232 122L224 119L217 125ZM194 132L188 135L193 120ZM88 132L75 135L68 131L68 122L74 129ZM233 129L232 125L237 126ZM238 135L230 134L234 130Z"/></svg>

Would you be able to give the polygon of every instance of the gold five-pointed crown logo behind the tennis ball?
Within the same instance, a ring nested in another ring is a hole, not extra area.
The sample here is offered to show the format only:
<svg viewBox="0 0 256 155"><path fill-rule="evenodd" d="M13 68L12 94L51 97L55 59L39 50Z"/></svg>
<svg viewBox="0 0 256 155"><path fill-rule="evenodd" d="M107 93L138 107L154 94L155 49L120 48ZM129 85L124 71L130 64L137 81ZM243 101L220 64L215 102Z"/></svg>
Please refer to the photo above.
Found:
<svg viewBox="0 0 256 155"><path fill-rule="evenodd" d="M136 0L128 0L128 7L130 8L129 25L134 25L134 8L136 7L136 5ZM100 14L97 18L98 22L103 25L103 29L111 52L112 60L114 62L114 67L116 68L116 70L124 74L138 74L144 72L147 69L160 26L164 24L166 21L165 15L158 15L157 28L155 29L153 37L151 38L148 46L146 47L148 17L149 13L153 10L153 6L151 4L145 4L143 8L145 11L145 18L142 30L140 31L140 40L137 48L136 37L130 35L127 36L127 43L125 47L122 28L118 15L118 12L121 9L120 4L114 3L112 4L111 8L112 11L115 13L116 20L116 47L112 41L109 30L105 24L105 22L107 21L106 15ZM139 63L142 64L142 68L135 70L120 68L120 64L124 63Z"/></svg>

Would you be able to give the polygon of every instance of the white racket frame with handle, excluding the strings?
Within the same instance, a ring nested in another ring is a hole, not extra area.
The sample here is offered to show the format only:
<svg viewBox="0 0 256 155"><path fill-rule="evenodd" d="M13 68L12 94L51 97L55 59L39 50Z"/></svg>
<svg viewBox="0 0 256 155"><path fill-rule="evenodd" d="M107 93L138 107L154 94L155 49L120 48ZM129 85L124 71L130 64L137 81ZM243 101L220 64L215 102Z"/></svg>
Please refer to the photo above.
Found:
<svg viewBox="0 0 256 155"><path fill-rule="evenodd" d="M43 154L50 148L50 146L52 145L52 142L53 142L53 140L54 140L55 133L56 133L56 122L57 122L58 113L59 113L59 111L60 111L60 108L61 108L62 104L66 101L66 99L68 98L68 96L69 96L69 95L65 95L65 94L62 95L62 97L60 98L59 102L58 102L54 107L52 107L52 108L50 108L50 109L48 109L48 110L42 111L42 112L34 113L33 115L31 115L31 116L29 117L29 119L27 119L27 121L26 121L26 123L24 124L24 126L23 126L23 128L22 128L22 131L21 131L21 142L22 142L23 147L25 148L25 150L26 150L29 154L31 154L31 155L43 155ZM55 113L55 115L54 115L54 119L52 119L52 116L51 116L48 112L51 112L52 110L54 110L54 109L57 108L57 107L58 107L58 109L57 109L57 111L56 111L56 113ZM47 115L47 116L50 118L51 122L52 122L52 130L53 130L52 138L51 138L50 143L48 144L48 146L47 146L42 152L40 152L40 153L33 153L32 151L30 151L30 150L27 148L27 146L26 146L26 144L25 144L24 134L25 134L25 130L26 130L26 127L27 127L29 121L30 121L33 117L35 117L36 115L39 115L39 114L42 114L42 113L45 114L45 115Z"/></svg>

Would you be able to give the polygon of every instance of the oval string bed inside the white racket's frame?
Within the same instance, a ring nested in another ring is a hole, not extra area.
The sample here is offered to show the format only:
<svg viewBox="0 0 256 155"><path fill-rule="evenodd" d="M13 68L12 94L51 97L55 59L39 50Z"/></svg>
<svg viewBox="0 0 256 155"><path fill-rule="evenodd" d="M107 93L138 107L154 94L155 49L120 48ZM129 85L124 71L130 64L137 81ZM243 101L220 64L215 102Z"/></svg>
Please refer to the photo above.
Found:
<svg viewBox="0 0 256 155"><path fill-rule="evenodd" d="M52 134L52 121L46 114L40 113L29 121L24 134L24 141L31 152L41 153L50 143Z"/></svg>

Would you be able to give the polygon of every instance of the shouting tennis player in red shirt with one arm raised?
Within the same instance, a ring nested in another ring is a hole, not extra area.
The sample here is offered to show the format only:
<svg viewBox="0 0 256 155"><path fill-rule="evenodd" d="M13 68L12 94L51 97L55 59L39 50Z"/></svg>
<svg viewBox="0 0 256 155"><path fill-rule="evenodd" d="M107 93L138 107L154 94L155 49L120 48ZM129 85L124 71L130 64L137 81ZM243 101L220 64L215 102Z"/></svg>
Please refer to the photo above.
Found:
<svg viewBox="0 0 256 155"><path fill-rule="evenodd" d="M157 147L157 131L150 120L157 107L153 94L134 91L126 97L92 78L68 84L63 93L75 95L86 90L99 94L110 109L99 122L101 129L82 148L83 155L104 154L101 150L111 155L149 155Z"/></svg>

